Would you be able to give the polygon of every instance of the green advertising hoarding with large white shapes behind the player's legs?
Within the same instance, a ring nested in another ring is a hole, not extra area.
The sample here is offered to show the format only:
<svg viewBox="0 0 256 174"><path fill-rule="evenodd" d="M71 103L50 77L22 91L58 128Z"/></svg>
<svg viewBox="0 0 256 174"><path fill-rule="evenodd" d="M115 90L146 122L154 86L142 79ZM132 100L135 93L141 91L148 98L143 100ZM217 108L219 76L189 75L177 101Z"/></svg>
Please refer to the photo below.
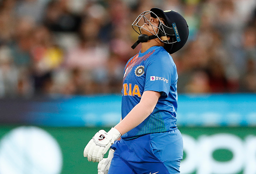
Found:
<svg viewBox="0 0 256 174"><path fill-rule="evenodd" d="M97 174L98 163L88 162L83 150L100 129L110 127L1 126L0 164L5 167L0 173L9 174L12 169L16 174L39 170L42 174ZM256 173L255 127L180 127L180 131L184 138L181 174ZM42 158L44 146L53 153L46 151Z"/></svg>

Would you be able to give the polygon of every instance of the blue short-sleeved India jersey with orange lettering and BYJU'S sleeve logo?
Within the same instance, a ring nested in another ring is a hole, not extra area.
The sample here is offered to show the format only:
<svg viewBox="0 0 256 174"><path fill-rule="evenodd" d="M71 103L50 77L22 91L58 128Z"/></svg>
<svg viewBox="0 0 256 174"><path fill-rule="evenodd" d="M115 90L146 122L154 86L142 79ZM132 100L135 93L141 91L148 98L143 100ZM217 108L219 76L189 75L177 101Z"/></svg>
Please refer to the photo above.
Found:
<svg viewBox="0 0 256 174"><path fill-rule="evenodd" d="M122 119L140 102L144 91L157 91L161 96L153 112L134 129L122 135L123 139L176 129L177 81L176 65L163 47L153 46L128 61L123 77Z"/></svg>

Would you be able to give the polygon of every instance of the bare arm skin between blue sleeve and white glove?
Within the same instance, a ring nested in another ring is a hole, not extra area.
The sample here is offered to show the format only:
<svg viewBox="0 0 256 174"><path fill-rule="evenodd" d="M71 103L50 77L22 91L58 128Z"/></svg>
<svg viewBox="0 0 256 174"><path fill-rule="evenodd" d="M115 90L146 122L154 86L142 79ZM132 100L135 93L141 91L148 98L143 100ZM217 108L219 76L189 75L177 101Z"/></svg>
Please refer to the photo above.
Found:
<svg viewBox="0 0 256 174"><path fill-rule="evenodd" d="M153 112L160 96L156 91L144 91L140 102L114 128L123 135L138 126Z"/></svg>

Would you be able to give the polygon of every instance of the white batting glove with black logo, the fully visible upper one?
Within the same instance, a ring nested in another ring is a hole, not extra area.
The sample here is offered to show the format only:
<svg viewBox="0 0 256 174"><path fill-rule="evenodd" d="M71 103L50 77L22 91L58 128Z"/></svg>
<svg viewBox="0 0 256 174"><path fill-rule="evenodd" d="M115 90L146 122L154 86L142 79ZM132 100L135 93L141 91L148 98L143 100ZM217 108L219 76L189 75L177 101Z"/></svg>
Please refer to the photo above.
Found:
<svg viewBox="0 0 256 174"><path fill-rule="evenodd" d="M121 133L115 129L110 129L109 132L100 130L84 148L84 157L88 161L100 162L109 147L121 136Z"/></svg>

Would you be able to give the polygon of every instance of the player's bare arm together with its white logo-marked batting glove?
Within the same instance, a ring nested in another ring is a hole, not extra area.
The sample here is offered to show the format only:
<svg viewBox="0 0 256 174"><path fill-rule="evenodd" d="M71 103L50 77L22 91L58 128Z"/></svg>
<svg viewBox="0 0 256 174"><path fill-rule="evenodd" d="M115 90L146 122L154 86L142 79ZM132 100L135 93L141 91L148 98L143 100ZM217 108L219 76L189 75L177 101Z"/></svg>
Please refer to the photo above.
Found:
<svg viewBox="0 0 256 174"><path fill-rule="evenodd" d="M84 148L84 157L87 157L88 161L100 162L109 147L121 135L138 126L153 112L159 97L159 92L144 91L140 102L120 123L110 129L109 132L100 130L94 135Z"/></svg>

